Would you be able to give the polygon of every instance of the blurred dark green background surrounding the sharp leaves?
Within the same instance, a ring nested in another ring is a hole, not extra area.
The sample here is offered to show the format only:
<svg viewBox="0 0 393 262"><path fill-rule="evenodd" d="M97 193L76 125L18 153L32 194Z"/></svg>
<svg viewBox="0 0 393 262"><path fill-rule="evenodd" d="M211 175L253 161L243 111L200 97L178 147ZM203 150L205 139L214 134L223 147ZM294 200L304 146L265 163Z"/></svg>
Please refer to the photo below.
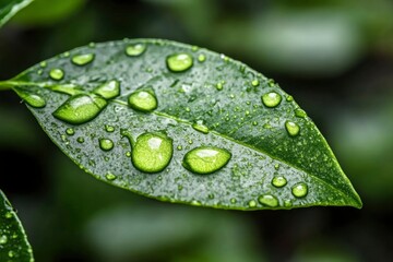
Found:
<svg viewBox="0 0 393 262"><path fill-rule="evenodd" d="M36 0L0 29L0 80L126 37L206 47L274 79L320 128L364 207L239 212L142 198L81 171L1 92L0 188L37 262L393 260L391 0Z"/></svg>

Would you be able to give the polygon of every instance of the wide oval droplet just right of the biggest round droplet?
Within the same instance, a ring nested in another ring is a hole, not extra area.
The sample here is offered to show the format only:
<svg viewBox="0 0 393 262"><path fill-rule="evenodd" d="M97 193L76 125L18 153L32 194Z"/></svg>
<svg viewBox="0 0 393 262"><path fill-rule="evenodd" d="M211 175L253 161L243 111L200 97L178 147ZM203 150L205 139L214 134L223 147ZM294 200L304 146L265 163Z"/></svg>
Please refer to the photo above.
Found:
<svg viewBox="0 0 393 262"><path fill-rule="evenodd" d="M212 174L223 168L231 154L224 148L200 146L188 152L182 160L183 167L195 174Z"/></svg>

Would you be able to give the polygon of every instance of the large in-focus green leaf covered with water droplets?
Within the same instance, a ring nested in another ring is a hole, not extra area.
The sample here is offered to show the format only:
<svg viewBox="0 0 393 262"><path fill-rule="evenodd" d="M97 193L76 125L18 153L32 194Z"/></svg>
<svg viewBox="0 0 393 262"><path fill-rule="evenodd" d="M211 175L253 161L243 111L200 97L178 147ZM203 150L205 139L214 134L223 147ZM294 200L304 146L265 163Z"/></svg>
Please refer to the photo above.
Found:
<svg viewBox="0 0 393 262"><path fill-rule="evenodd" d="M160 39L91 44L1 85L110 184L217 209L361 207L294 98L224 55Z"/></svg>

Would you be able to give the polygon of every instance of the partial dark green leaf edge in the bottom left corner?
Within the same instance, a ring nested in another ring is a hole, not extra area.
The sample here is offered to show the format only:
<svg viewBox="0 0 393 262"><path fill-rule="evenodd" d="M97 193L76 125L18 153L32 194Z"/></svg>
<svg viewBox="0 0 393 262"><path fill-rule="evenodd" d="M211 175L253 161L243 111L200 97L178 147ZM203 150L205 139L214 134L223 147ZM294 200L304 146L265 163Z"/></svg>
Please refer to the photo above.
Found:
<svg viewBox="0 0 393 262"><path fill-rule="evenodd" d="M0 190L0 261L33 262L33 250L9 200Z"/></svg>

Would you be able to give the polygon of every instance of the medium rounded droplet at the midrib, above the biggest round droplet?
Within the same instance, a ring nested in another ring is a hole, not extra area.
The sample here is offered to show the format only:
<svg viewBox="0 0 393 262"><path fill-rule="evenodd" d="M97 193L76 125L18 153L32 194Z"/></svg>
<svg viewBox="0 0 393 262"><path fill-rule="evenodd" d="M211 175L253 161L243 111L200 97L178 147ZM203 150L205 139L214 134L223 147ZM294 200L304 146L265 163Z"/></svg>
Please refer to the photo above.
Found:
<svg viewBox="0 0 393 262"><path fill-rule="evenodd" d="M153 90L135 91L129 96L128 103L138 111L148 112L157 108L157 98Z"/></svg>

